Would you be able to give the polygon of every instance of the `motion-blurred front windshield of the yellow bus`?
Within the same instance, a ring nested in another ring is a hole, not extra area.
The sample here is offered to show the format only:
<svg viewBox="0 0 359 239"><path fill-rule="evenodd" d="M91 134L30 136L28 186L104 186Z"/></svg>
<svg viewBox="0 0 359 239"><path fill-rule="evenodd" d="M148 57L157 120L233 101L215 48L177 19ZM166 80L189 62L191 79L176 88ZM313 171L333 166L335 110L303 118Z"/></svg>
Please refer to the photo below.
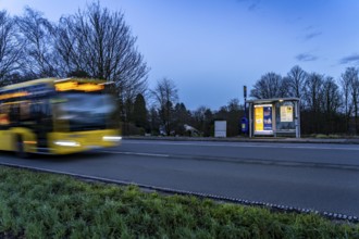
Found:
<svg viewBox="0 0 359 239"><path fill-rule="evenodd" d="M115 111L114 100L104 93L63 93L55 100L55 121L67 121L70 131L104 129Z"/></svg>

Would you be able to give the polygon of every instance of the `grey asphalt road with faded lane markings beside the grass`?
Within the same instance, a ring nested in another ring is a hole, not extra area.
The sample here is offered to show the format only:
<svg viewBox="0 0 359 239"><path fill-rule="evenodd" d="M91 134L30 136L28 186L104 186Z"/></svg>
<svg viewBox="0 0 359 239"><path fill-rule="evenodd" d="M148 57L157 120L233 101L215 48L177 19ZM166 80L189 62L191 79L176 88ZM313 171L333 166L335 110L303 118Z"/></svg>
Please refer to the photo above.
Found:
<svg viewBox="0 0 359 239"><path fill-rule="evenodd" d="M124 140L1 163L359 216L359 146Z"/></svg>

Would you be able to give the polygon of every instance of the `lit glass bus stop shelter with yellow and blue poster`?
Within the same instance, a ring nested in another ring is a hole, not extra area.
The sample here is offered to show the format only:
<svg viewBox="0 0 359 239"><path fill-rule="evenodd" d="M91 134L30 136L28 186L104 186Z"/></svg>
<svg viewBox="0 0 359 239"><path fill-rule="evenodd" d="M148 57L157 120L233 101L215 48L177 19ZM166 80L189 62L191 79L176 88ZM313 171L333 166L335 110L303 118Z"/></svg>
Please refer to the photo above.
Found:
<svg viewBox="0 0 359 239"><path fill-rule="evenodd" d="M300 138L298 98L247 100L249 137L273 136Z"/></svg>

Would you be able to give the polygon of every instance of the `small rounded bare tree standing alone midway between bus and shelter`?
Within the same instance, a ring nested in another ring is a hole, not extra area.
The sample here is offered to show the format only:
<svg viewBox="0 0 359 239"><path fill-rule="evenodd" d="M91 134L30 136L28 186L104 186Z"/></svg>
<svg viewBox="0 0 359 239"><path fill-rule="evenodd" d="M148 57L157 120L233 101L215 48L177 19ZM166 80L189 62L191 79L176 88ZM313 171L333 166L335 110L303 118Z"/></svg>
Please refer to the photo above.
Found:
<svg viewBox="0 0 359 239"><path fill-rule="evenodd" d="M163 78L157 83L154 89L151 90L151 95L165 134L170 135L173 129L173 106L178 101L178 90L173 80Z"/></svg>

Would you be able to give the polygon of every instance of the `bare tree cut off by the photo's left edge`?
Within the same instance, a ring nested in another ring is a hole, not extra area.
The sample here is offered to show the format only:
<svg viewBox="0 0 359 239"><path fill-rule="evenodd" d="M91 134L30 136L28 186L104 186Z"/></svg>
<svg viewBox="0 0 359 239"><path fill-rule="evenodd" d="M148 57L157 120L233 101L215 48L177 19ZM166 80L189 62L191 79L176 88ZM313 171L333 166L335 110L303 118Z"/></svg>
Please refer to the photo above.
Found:
<svg viewBox="0 0 359 239"><path fill-rule="evenodd" d="M23 45L17 39L15 23L5 11L0 12L0 80L1 85L20 67Z"/></svg>

